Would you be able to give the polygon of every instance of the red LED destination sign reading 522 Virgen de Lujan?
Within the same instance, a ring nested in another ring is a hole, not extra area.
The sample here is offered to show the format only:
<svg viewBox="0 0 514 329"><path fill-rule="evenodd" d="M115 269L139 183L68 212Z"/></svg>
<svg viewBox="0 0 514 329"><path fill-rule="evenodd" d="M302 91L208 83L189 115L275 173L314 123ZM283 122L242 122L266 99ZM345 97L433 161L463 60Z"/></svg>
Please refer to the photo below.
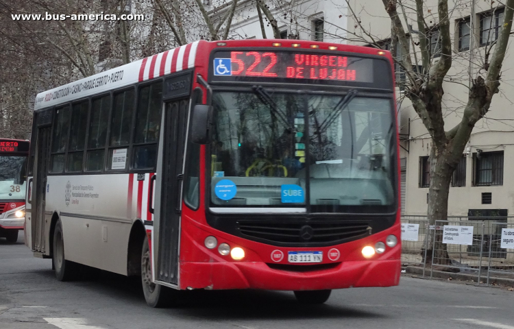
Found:
<svg viewBox="0 0 514 329"><path fill-rule="evenodd" d="M218 51L212 73L220 80L251 78L374 82L374 64L383 60L291 51Z"/></svg>

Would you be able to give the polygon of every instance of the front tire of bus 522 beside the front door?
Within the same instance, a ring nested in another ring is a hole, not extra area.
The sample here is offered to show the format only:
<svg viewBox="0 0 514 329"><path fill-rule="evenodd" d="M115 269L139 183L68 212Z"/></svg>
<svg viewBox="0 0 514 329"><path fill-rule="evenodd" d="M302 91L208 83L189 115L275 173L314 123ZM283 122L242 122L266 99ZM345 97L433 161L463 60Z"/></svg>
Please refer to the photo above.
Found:
<svg viewBox="0 0 514 329"><path fill-rule="evenodd" d="M141 250L141 284L148 306L163 308L171 306L171 289L151 282L151 258L148 237L143 241Z"/></svg>

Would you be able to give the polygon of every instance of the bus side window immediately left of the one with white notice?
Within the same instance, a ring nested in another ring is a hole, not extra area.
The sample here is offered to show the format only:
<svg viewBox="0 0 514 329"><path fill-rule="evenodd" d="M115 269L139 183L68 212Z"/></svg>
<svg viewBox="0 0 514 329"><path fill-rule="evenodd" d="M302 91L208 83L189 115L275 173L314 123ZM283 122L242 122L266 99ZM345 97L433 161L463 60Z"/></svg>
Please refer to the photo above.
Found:
<svg viewBox="0 0 514 329"><path fill-rule="evenodd" d="M86 153L86 171L101 171L103 169L110 99L110 95L93 99L89 123L88 151Z"/></svg>

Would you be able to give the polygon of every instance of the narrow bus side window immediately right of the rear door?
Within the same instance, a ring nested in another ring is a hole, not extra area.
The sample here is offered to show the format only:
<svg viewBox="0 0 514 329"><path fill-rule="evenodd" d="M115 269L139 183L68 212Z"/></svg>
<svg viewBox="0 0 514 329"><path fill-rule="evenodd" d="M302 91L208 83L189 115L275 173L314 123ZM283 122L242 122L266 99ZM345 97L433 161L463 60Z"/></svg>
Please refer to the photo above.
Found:
<svg viewBox="0 0 514 329"><path fill-rule="evenodd" d="M62 173L64 169L64 152L66 152L66 141L70 127L70 112L70 106L64 106L56 110L51 145L51 173Z"/></svg>

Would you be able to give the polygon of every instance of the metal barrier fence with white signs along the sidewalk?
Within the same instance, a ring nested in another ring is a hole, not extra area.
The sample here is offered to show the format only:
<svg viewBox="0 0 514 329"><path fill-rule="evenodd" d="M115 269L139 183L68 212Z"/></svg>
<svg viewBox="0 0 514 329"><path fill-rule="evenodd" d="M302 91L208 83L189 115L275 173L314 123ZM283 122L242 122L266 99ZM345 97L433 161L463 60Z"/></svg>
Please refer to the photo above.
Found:
<svg viewBox="0 0 514 329"><path fill-rule="evenodd" d="M430 278L435 270L471 274L479 284L514 278L514 218L449 216L430 226L426 216L404 215L402 263L422 266L424 277L430 263Z"/></svg>

